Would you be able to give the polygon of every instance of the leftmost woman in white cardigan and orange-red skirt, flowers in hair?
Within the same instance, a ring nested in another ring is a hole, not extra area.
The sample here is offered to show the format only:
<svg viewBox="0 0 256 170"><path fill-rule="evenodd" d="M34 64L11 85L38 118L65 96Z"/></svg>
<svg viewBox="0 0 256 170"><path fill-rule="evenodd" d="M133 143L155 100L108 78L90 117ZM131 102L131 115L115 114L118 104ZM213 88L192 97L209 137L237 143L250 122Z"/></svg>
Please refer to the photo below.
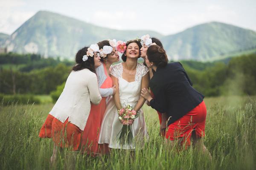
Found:
<svg viewBox="0 0 256 170"><path fill-rule="evenodd" d="M58 101L49 112L39 137L52 138L54 149L51 162L54 162L58 147L71 147L78 150L81 132L90 113L91 102L99 104L99 93L95 68L101 65L99 46L84 47L76 54L76 65L67 78Z"/></svg>

